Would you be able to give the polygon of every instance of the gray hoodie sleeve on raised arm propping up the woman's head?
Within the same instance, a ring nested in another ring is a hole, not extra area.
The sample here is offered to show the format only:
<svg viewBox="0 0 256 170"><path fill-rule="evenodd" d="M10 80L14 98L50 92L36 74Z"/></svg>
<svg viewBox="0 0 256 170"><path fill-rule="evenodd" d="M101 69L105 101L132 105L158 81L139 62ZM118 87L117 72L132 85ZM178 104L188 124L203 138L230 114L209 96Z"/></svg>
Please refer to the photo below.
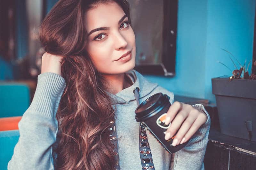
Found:
<svg viewBox="0 0 256 170"><path fill-rule="evenodd" d="M56 112L66 87L63 77L55 73L38 75L34 98L18 127L19 141L8 169L54 169L52 145L56 141Z"/></svg>

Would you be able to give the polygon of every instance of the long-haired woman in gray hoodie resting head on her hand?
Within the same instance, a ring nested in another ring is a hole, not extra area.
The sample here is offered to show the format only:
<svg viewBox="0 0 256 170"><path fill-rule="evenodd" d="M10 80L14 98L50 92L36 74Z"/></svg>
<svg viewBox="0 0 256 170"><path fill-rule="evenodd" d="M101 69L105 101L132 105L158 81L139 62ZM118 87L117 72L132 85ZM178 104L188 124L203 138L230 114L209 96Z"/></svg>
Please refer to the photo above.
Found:
<svg viewBox="0 0 256 170"><path fill-rule="evenodd" d="M157 92L170 96L166 140L177 131L173 146L190 139L176 152L174 169L204 168L210 117L202 105L173 102L172 92L132 70L136 45L126 0L60 0L44 19L40 39L46 51L42 74L19 122L9 169L171 168L171 154L148 131L152 160L145 166L141 161L136 87L140 102Z"/></svg>

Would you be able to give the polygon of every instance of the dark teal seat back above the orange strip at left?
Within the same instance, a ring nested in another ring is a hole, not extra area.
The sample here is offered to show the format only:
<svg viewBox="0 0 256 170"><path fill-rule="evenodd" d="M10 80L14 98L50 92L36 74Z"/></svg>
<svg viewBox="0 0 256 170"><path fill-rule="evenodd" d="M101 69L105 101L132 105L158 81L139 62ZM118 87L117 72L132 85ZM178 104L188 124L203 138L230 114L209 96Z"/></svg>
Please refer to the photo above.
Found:
<svg viewBox="0 0 256 170"><path fill-rule="evenodd" d="M0 84L0 117L22 116L30 105L28 85Z"/></svg>

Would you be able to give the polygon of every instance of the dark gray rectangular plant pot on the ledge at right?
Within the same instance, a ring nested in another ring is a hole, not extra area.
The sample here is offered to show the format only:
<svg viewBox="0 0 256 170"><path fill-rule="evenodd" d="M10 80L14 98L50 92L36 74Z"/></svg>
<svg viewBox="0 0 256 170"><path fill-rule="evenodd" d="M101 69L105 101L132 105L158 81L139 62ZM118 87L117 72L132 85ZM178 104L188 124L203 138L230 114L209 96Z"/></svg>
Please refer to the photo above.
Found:
<svg viewBox="0 0 256 170"><path fill-rule="evenodd" d="M256 141L256 80L212 78L220 131Z"/></svg>

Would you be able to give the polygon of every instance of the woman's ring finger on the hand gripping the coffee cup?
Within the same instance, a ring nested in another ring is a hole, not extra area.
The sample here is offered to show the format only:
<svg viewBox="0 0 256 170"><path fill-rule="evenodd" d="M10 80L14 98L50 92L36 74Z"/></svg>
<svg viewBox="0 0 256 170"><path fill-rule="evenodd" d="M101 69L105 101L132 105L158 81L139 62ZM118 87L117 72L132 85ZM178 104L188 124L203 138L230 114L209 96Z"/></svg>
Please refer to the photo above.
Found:
<svg viewBox="0 0 256 170"><path fill-rule="evenodd" d="M188 132L188 130L191 128L191 126L193 125L193 123L196 121L196 117L194 116L188 116L187 119L182 123L179 131L177 132L177 134L173 137L173 142L172 142L172 146L176 146L178 144L182 144L184 143L184 136L186 135L186 133ZM182 141L182 142L181 142Z"/></svg>

